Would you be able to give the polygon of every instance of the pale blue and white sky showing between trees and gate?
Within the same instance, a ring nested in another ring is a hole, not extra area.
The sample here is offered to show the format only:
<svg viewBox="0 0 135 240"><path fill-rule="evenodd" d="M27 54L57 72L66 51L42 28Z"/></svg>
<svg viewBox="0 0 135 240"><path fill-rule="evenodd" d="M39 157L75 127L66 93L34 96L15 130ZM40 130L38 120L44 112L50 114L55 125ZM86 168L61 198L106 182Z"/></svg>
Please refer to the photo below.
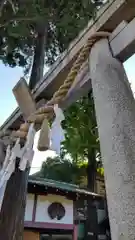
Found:
<svg viewBox="0 0 135 240"><path fill-rule="evenodd" d="M135 55L128 59L124 63L131 88L135 93ZM12 89L23 76L22 68L10 68L0 62L0 125L10 116L10 114L16 109L17 103L12 93ZM40 170L42 162L47 156L55 156L52 151L39 152L36 148L39 133L36 134L34 150L35 155L32 162L31 174Z"/></svg>

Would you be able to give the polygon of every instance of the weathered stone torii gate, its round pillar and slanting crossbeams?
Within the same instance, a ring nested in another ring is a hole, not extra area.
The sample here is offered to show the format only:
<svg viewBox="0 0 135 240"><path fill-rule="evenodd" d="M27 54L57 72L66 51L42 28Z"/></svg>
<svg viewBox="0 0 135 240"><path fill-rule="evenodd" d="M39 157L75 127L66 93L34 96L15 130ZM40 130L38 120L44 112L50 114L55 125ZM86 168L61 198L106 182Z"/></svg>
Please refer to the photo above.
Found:
<svg viewBox="0 0 135 240"><path fill-rule="evenodd" d="M83 33L83 38L79 37L78 42L74 42L74 47L71 44L70 55L66 58L66 53L63 54L52 67L53 79L56 80L60 72L74 61L77 52L93 32L108 30L109 26L109 30L114 30L109 41L105 38L94 44L89 61L84 63L60 105L62 108L67 107L92 85L105 169L112 240L135 239L135 101L122 65L122 62L135 52L134 9L135 2L131 0L110 1L101 10L100 18L97 17L97 25L89 26ZM126 21L122 21L123 19ZM58 70L57 64L62 58ZM34 90L35 97L40 95L42 86L45 85L47 89L48 84L41 81ZM51 82L51 88L52 84ZM54 84L53 87L55 86ZM13 122L8 122L7 126L11 124ZM6 129L6 124L3 129Z"/></svg>

